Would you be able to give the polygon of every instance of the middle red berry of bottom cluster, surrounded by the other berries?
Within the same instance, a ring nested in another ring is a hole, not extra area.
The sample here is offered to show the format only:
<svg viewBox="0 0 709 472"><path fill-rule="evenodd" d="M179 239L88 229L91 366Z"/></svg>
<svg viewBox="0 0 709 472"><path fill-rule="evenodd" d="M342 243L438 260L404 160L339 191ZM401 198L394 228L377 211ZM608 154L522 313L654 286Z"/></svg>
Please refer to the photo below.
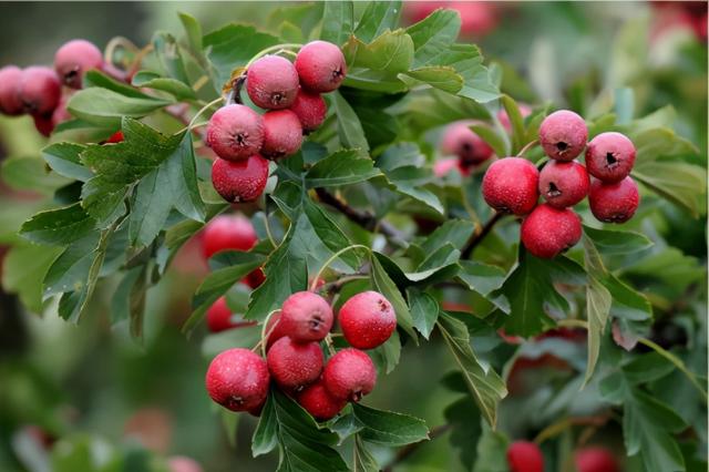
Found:
<svg viewBox="0 0 709 472"><path fill-rule="evenodd" d="M266 361L276 383L290 391L298 391L318 380L325 363L318 342L298 343L287 336L274 342Z"/></svg>

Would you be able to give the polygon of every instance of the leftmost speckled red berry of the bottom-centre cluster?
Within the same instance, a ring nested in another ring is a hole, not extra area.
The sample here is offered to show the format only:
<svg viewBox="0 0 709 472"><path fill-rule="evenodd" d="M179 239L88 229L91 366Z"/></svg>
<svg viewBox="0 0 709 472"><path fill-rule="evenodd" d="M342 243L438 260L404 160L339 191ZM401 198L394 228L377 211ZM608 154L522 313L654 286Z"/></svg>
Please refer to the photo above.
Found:
<svg viewBox="0 0 709 472"><path fill-rule="evenodd" d="M212 360L206 386L212 400L232 411L260 407L268 396L266 361L248 349L228 349Z"/></svg>

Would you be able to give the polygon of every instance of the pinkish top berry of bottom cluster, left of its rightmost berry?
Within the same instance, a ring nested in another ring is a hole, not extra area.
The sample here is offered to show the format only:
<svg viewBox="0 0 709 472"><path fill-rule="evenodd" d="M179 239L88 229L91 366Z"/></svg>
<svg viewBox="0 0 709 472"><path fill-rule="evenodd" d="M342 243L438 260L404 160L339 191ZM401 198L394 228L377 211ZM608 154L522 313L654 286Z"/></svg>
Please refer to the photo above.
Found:
<svg viewBox="0 0 709 472"><path fill-rule="evenodd" d="M284 301L280 325L296 342L321 341L332 328L332 308L312 291L298 291Z"/></svg>

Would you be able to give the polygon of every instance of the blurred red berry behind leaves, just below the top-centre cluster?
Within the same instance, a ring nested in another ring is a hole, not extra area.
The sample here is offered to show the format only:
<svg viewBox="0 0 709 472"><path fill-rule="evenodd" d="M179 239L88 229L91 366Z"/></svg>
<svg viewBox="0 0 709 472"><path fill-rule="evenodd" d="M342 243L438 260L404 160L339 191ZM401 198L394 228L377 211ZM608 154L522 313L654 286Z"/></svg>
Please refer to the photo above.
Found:
<svg viewBox="0 0 709 472"><path fill-rule="evenodd" d="M219 215L207 223L204 228L202 254L208 259L222 250L247 252L257 242L256 229L246 216Z"/></svg>

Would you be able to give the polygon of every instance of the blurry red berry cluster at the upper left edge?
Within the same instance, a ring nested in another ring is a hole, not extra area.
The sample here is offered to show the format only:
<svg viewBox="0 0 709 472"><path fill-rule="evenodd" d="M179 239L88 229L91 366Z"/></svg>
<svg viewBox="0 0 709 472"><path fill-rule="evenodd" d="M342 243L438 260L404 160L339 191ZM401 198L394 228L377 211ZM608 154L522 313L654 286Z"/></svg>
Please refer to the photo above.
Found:
<svg viewBox="0 0 709 472"><path fill-rule="evenodd" d="M92 69L110 68L101 50L85 40L72 40L59 48L54 69L7 65L0 69L0 112L10 116L28 113L37 130L49 136L59 123L71 117L66 102L73 90L82 88L84 73Z"/></svg>

